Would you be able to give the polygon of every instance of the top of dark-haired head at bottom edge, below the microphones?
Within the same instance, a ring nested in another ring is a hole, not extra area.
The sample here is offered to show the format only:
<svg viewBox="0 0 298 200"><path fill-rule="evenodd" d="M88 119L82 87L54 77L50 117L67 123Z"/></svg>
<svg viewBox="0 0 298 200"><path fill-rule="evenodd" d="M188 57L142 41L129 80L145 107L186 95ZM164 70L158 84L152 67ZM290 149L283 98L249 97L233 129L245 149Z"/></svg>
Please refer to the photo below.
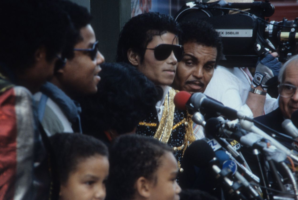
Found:
<svg viewBox="0 0 298 200"><path fill-rule="evenodd" d="M185 189L179 193L180 200L218 200L207 192L198 189Z"/></svg>

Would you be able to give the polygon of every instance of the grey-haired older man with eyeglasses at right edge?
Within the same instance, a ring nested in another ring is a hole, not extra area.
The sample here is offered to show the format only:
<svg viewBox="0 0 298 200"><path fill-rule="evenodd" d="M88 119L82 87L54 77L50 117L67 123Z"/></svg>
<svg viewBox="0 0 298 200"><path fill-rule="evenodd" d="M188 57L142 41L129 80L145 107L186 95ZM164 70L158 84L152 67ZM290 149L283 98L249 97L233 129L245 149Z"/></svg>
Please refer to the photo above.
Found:
<svg viewBox="0 0 298 200"><path fill-rule="evenodd" d="M290 119L292 113L298 109L298 55L291 57L283 64L278 74L278 105L279 107L271 113L255 118L262 124L284 133L282 122L285 119ZM263 127L259 128L265 130ZM291 142L286 142L291 144Z"/></svg>

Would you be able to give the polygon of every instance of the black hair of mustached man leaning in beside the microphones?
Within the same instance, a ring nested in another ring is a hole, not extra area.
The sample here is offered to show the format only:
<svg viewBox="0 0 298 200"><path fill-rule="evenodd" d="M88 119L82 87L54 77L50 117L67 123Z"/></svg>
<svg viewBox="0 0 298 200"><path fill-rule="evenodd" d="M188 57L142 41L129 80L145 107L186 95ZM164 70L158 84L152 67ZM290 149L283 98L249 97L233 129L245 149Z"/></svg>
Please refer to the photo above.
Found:
<svg viewBox="0 0 298 200"><path fill-rule="evenodd" d="M223 44L219 34L213 29L213 26L203 20L182 21L180 25L182 29L182 35L179 38L180 44L184 45L187 42L195 42L207 47L216 47L216 66L222 56Z"/></svg>

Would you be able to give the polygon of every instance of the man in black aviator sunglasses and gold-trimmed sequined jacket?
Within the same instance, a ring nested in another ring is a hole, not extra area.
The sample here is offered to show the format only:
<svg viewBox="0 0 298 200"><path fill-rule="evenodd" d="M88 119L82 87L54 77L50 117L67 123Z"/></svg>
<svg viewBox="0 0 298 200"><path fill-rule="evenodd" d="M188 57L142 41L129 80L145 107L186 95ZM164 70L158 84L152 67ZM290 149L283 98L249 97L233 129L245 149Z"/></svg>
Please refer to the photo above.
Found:
<svg viewBox="0 0 298 200"><path fill-rule="evenodd" d="M159 13L133 17L123 27L118 42L117 62L126 62L162 88L162 98L139 123L137 134L168 143L181 162L188 142L192 142L191 116L174 106L176 91L172 84L183 47L178 43L181 30L174 19ZM189 126L190 125L190 126Z"/></svg>

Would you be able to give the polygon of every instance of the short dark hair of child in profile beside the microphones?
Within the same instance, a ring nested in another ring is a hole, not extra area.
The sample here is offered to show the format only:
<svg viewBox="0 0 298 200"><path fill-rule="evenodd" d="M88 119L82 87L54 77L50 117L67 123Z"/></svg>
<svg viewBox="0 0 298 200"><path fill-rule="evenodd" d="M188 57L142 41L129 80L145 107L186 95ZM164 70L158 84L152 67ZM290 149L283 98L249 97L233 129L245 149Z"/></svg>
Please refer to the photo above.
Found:
<svg viewBox="0 0 298 200"><path fill-rule="evenodd" d="M106 200L130 200L139 177L157 181L160 158L172 149L157 139L140 135L118 137L110 147L110 175ZM115 189L116 188L116 189Z"/></svg>

